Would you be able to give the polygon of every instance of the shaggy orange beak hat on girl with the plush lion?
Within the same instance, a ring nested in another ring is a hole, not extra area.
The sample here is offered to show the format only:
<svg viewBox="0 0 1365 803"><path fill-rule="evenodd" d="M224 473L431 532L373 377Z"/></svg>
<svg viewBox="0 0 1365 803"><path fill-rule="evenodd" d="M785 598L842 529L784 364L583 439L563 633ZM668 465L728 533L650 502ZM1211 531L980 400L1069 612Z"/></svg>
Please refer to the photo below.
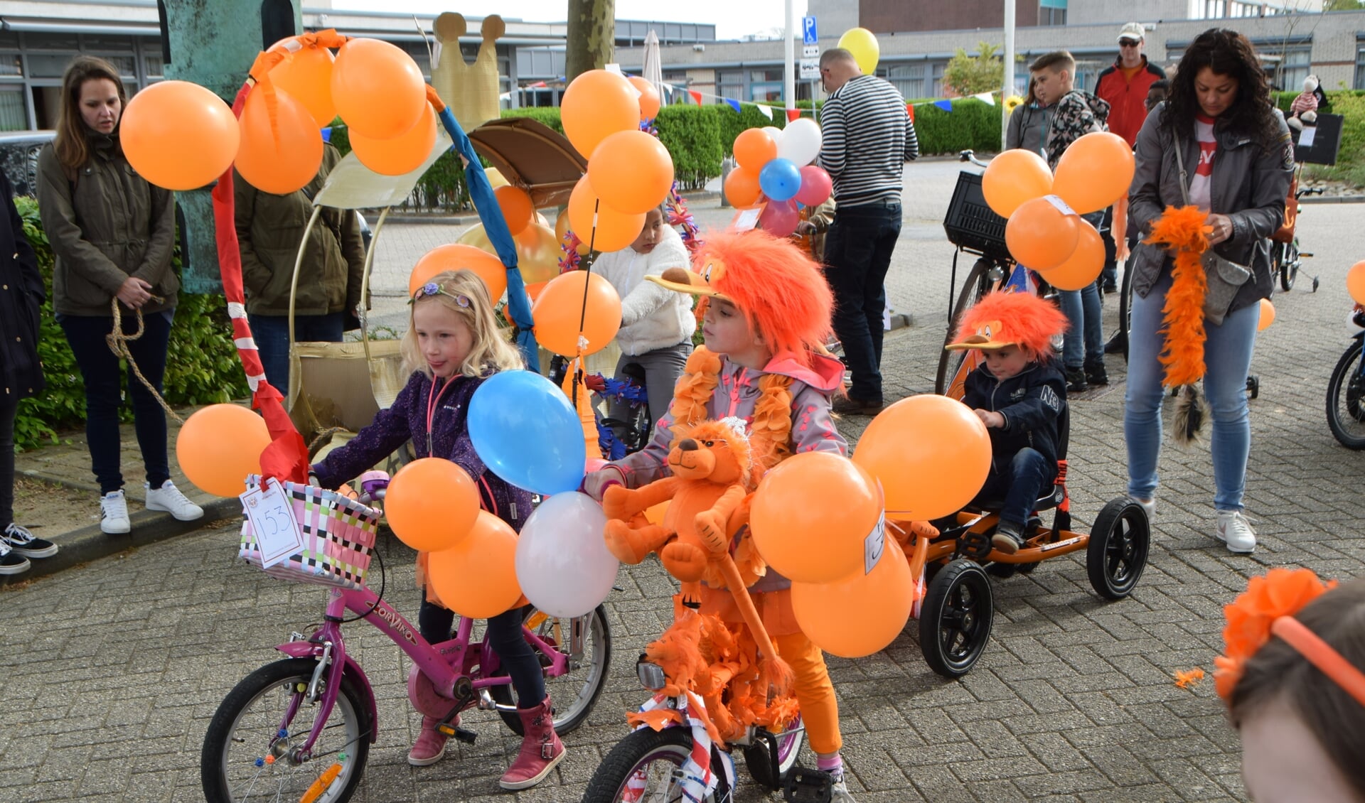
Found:
<svg viewBox="0 0 1365 803"><path fill-rule="evenodd" d="M710 232L692 270L646 277L678 293L721 299L740 308L774 354L808 352L830 334L834 296L820 267L786 237L763 230Z"/></svg>

